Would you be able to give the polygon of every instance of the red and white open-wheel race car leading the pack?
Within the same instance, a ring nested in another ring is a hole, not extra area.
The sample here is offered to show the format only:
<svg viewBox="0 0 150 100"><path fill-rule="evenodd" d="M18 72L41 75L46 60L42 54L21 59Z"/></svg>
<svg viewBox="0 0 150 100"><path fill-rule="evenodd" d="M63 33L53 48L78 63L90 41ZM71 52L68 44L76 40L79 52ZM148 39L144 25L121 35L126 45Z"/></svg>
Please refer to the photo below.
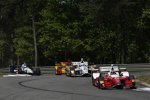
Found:
<svg viewBox="0 0 150 100"><path fill-rule="evenodd" d="M100 89L136 88L134 75L113 65L93 70L92 84Z"/></svg>

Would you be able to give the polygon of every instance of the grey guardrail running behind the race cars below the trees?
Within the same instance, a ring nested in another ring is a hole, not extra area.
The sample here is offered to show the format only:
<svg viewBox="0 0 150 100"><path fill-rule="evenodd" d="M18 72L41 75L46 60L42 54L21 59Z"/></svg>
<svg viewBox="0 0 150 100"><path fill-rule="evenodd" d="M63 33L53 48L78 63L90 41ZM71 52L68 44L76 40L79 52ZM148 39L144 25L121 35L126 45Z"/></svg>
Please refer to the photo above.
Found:
<svg viewBox="0 0 150 100"><path fill-rule="evenodd" d="M114 64L120 68L125 67L131 74L136 74L136 76L150 75L150 64ZM96 64L99 66L110 66L110 64ZM54 74L54 66L38 66L41 69L42 74ZM9 68L0 68L0 71L9 73Z"/></svg>

